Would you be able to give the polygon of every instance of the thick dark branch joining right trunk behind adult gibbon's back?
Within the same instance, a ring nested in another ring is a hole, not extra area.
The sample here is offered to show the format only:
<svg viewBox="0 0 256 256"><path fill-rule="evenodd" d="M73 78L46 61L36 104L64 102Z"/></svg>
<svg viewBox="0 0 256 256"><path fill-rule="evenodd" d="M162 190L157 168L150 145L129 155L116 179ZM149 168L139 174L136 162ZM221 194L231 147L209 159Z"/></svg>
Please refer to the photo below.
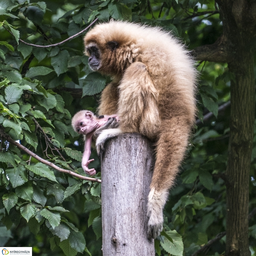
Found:
<svg viewBox="0 0 256 256"><path fill-rule="evenodd" d="M196 60L230 62L232 57L229 56L226 42L226 38L222 35L214 44L206 44L196 47L192 51L192 55L196 58Z"/></svg>

